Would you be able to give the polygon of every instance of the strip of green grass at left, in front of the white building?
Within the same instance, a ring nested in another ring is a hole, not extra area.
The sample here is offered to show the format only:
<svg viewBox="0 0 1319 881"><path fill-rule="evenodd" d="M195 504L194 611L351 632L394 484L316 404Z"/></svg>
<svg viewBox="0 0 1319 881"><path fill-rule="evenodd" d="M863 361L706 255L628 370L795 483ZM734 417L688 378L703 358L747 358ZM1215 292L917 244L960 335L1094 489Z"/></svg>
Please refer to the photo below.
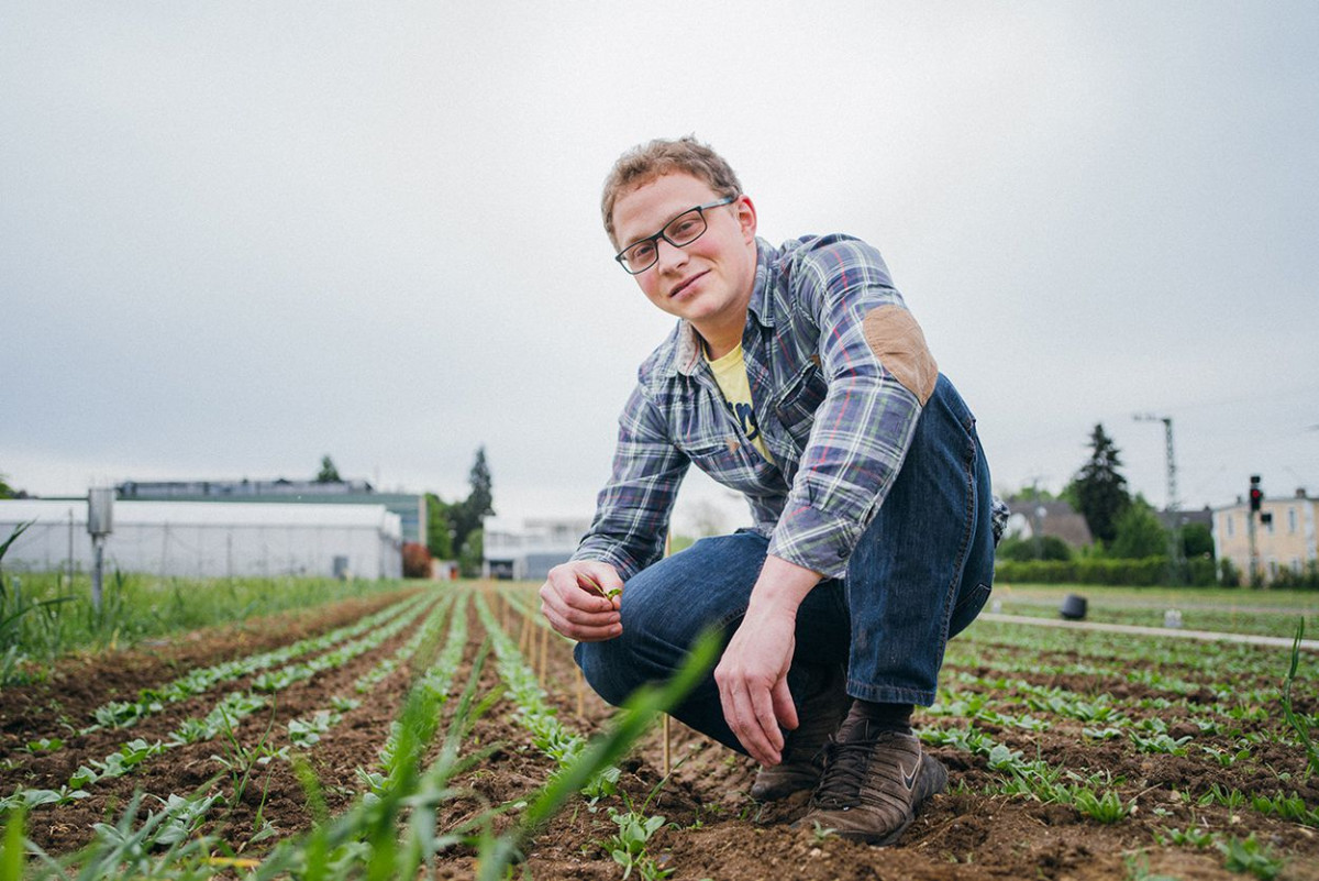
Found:
<svg viewBox="0 0 1319 881"><path fill-rule="evenodd" d="M102 608L91 604L91 576L15 574L4 555L22 533L0 543L0 688L40 679L55 658L78 650L132 645L215 624L396 591L404 582L330 578L157 578L111 572Z"/></svg>

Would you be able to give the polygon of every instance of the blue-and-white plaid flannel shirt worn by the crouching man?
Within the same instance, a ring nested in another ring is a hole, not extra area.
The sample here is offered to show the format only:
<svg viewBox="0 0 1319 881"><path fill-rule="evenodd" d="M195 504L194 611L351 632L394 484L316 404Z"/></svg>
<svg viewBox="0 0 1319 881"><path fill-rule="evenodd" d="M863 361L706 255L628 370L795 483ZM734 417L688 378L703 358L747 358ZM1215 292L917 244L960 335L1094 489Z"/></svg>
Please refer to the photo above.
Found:
<svg viewBox="0 0 1319 881"><path fill-rule="evenodd" d="M663 555L678 487L694 463L743 493L769 553L842 578L906 456L919 400L869 348L861 320L897 305L878 251L848 236L757 240L743 359L766 462L679 322L642 363L619 418L613 471L572 559L624 579ZM995 500L996 526L1006 506ZM996 533L998 529L996 529Z"/></svg>

